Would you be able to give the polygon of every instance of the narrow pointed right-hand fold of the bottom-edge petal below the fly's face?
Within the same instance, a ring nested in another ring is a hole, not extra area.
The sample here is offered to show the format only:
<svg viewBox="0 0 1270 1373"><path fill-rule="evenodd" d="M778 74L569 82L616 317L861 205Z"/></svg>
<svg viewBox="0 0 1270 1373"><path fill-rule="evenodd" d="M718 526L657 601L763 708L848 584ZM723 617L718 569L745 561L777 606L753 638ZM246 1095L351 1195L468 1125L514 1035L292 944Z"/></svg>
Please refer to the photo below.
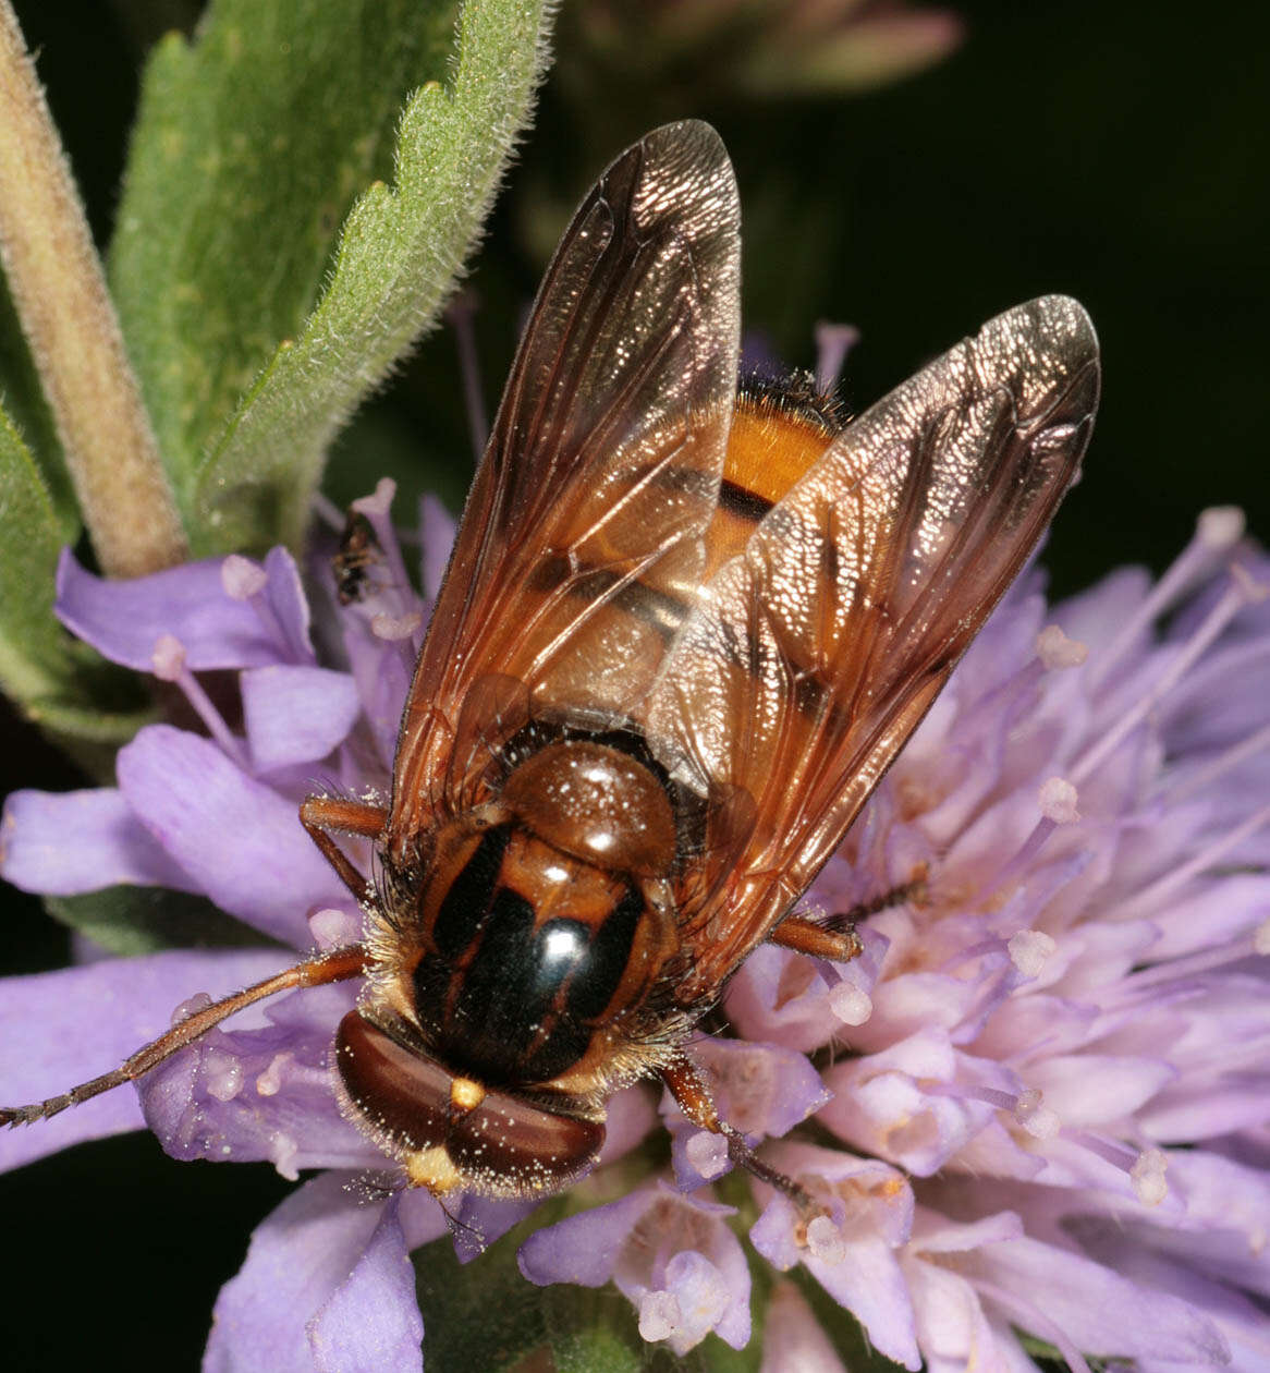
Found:
<svg viewBox="0 0 1270 1373"><path fill-rule="evenodd" d="M393 1201L357 1266L309 1321L308 1335L320 1373L423 1369L415 1269Z"/></svg>

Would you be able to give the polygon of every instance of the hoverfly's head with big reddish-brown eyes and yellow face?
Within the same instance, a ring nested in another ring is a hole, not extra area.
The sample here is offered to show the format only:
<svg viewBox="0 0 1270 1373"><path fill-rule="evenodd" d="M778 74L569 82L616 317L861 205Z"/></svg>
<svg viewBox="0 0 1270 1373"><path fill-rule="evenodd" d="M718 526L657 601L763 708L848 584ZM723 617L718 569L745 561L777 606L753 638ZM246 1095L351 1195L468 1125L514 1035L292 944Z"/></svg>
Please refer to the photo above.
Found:
<svg viewBox="0 0 1270 1373"><path fill-rule="evenodd" d="M486 1089L400 1043L360 1011L339 1023L335 1061L358 1126L441 1195L531 1197L557 1192L596 1159L599 1120Z"/></svg>

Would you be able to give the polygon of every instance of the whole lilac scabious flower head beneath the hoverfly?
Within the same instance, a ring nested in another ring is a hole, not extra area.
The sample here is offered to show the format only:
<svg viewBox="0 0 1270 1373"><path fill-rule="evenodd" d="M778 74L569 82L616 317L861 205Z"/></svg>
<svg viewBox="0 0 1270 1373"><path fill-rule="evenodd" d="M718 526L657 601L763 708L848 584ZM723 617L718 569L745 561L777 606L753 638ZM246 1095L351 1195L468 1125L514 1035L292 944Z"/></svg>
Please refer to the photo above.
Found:
<svg viewBox="0 0 1270 1373"><path fill-rule="evenodd" d="M63 560L63 621L170 681L203 732L143 729L115 788L12 796L3 875L56 894L200 892L276 947L11 979L3 1100L111 1067L191 995L266 976L288 950L358 938L297 806L314 787L387 787L452 537L426 503L417 597L390 498L384 483L358 503L383 559L347 605L320 564L306 596L283 551L133 584ZM692 1046L724 1116L820 1214L725 1177L719 1141L669 1100L667 1149L636 1087L611 1104L575 1214L522 1245L527 1281L612 1281L643 1336L677 1354L711 1332L744 1346L765 1293L765 1370L844 1366L813 1287L877 1351L931 1373L1016 1373L1041 1352L1075 1370L1270 1362L1270 563L1241 533L1208 512L1162 581L1126 570L1049 608L1026 574L809 894L813 909L876 908L862 957L759 949L729 989L730 1032ZM240 724L203 692L210 669L236 673ZM10 1167L146 1123L177 1157L323 1170L258 1227L207 1368L420 1366L406 1258L448 1221L423 1193L357 1186L384 1159L334 1092L331 1041L356 995L279 997L137 1093L0 1137ZM19 1023L41 1024L34 1045ZM578 1210L627 1175L618 1200ZM463 1256L530 1210L465 1203Z"/></svg>

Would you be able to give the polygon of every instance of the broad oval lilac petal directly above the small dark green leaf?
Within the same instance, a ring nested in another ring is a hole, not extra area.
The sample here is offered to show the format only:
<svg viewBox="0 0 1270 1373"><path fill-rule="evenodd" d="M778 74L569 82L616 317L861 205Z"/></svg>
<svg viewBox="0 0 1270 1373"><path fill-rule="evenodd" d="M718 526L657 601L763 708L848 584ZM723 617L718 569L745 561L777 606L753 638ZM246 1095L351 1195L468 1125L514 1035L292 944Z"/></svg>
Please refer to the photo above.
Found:
<svg viewBox="0 0 1270 1373"><path fill-rule="evenodd" d="M309 912L347 903L294 802L210 740L151 725L119 750L115 770L146 828L222 910L306 947Z"/></svg>

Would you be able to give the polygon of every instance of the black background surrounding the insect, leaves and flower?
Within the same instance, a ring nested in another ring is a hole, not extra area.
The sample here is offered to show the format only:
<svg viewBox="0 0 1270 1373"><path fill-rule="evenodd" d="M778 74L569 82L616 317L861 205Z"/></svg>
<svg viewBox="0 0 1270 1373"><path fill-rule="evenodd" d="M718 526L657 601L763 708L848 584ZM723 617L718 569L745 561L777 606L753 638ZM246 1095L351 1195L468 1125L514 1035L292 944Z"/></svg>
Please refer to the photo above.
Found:
<svg viewBox="0 0 1270 1373"><path fill-rule="evenodd" d="M652 124L702 115L737 168L747 327L798 365L811 362L817 319L859 327L853 408L1017 301L1065 291L1085 302L1104 401L1086 478L1046 553L1060 592L1118 563L1162 568L1205 505L1238 503L1254 530L1270 529L1263 7L957 8L960 52L866 96L754 103L728 96L725 73L641 89L636 70L585 113L568 97L585 67L568 19L560 76L472 277L489 404L577 195ZM141 54L189 8L29 0L18 11L104 239ZM386 464L422 456L416 483L456 501L471 464L456 376L453 339L438 334L342 446L334 494L373 485L350 454L382 445ZM4 791L76 784L36 735L8 718L3 728ZM38 902L3 899L4 971L63 962L65 938ZM0 1188L0 1347L14 1366L38 1368L194 1366L217 1288L287 1190L264 1166L172 1163L150 1137L84 1145Z"/></svg>

